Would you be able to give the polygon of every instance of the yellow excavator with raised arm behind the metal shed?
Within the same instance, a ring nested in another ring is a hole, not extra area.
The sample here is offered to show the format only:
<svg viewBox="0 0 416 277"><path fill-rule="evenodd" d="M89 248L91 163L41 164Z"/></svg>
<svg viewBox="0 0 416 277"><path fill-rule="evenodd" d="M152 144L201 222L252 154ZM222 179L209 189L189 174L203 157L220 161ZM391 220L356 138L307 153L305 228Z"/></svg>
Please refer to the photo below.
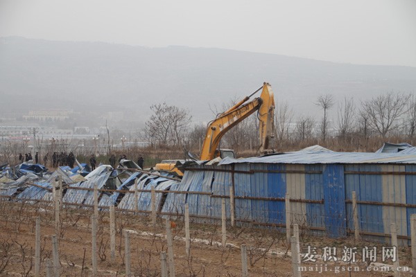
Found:
<svg viewBox="0 0 416 277"><path fill-rule="evenodd" d="M254 98L248 102L248 100L261 89L260 97ZM237 102L236 105L227 109L227 111L218 114L218 116L208 124L205 139L202 143L200 160L206 161L215 159L216 157L234 157L233 150L218 149L220 140L229 129L239 124L245 118L248 118L254 111L258 111L258 118L260 121L259 137L261 144L259 152L261 152L261 154L270 154L274 152L269 149L269 141L272 138L275 129L275 97L270 84L264 82L263 86L257 89L257 91L254 91L250 96L246 96L243 100ZM175 161L170 160L157 163L155 170L175 172L177 175L182 176L183 172L177 168L177 165L174 162Z"/></svg>

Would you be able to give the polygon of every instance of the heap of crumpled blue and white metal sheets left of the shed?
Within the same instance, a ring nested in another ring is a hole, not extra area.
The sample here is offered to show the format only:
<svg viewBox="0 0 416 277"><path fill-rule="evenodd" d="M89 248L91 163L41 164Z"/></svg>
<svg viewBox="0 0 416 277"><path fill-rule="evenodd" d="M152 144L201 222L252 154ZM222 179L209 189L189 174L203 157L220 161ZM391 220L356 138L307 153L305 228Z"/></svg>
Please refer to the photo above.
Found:
<svg viewBox="0 0 416 277"><path fill-rule="evenodd" d="M94 186L98 188L98 206L105 208L111 205L121 209L135 209L134 193L126 190L140 191L138 210L150 211L151 193L142 191L169 190L180 183L168 172L142 170L134 161L122 159L119 166L113 168L100 164L90 170L85 163L78 163L75 168L58 167L49 171L40 164L21 163L10 167L0 166L0 197L3 201L51 201L53 186L62 180L62 203L69 206L89 206L94 204ZM156 193L156 205L162 209L164 193Z"/></svg>

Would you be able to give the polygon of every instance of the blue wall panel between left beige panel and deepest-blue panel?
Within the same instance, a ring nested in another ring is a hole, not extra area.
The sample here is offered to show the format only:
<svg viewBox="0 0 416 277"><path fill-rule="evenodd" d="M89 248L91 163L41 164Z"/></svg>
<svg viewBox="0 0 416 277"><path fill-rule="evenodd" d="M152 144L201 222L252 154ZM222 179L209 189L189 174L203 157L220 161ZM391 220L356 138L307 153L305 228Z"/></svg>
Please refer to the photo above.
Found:
<svg viewBox="0 0 416 277"><path fill-rule="evenodd" d="M305 171L322 171L322 165L306 165ZM323 177L320 174L305 174L305 196L309 200L324 199ZM325 226L324 204L306 203L306 220L309 226Z"/></svg>

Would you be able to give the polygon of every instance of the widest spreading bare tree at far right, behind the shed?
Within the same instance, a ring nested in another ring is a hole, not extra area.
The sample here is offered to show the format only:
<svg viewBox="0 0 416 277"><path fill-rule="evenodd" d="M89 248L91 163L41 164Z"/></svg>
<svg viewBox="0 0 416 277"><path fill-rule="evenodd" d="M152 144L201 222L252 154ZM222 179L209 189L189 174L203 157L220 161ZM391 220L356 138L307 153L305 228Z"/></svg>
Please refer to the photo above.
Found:
<svg viewBox="0 0 416 277"><path fill-rule="evenodd" d="M408 111L410 94L385 93L362 102L361 112L368 118L368 125L383 138L402 126L399 118Z"/></svg>

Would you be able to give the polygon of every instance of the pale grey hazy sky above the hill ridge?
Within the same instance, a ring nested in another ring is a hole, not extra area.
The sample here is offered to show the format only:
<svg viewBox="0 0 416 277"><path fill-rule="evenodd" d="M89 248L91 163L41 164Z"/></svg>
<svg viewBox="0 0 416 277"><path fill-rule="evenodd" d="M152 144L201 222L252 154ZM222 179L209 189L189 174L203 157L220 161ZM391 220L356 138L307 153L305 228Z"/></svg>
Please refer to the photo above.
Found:
<svg viewBox="0 0 416 277"><path fill-rule="evenodd" d="M0 0L0 37L416 66L416 0Z"/></svg>

